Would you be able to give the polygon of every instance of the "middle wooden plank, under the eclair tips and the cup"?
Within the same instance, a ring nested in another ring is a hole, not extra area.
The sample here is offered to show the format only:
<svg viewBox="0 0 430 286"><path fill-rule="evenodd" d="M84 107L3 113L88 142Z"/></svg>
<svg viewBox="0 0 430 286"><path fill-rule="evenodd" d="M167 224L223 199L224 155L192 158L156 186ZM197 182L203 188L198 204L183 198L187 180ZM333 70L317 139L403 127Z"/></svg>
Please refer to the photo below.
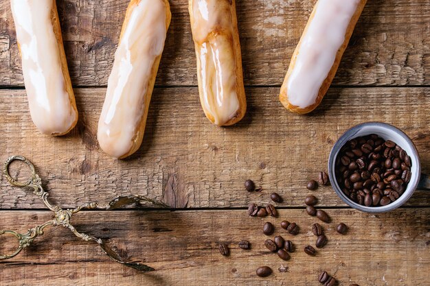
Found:
<svg viewBox="0 0 430 286"><path fill-rule="evenodd" d="M278 88L247 88L248 112L231 128L212 126L201 110L197 88L157 88L144 143L137 154L113 160L98 150L96 128L104 88L76 89L80 121L69 136L38 134L23 90L0 91L0 161L23 154L36 164L63 206L122 194L173 198L182 207L243 207L268 202L278 191L284 206L302 206L310 178L326 169L333 143L363 121L385 121L416 143L422 171L430 173L430 88L331 88L311 115L284 110ZM248 193L251 178L262 193ZM30 192L0 180L0 208L42 208ZM173 192L173 193L172 193ZM331 187L317 194L324 206L344 206ZM429 205L417 192L409 205Z"/></svg>

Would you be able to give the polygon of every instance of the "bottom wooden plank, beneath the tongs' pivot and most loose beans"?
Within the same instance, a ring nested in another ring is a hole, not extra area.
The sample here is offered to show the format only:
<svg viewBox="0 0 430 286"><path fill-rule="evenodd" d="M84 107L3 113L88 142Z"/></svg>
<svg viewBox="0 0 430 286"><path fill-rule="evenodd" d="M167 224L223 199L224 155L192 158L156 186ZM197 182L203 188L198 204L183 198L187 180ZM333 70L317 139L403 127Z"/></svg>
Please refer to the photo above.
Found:
<svg viewBox="0 0 430 286"><path fill-rule="evenodd" d="M351 210L328 210L331 224L322 224L328 237L317 257L303 252L315 245L310 225L316 222L304 210L281 211L278 219L247 217L246 211L86 212L73 224L78 230L110 238L124 250L126 259L142 261L157 269L139 274L113 261L91 243L74 237L65 228L49 229L23 250L19 257L0 262L0 285L319 285L326 270L339 285L428 285L430 272L430 208L412 208L381 215ZM49 212L1 212L0 229L25 231L45 222ZM282 219L296 222L301 231L293 237L279 227ZM275 235L291 239L296 251L282 261L264 248L261 232L267 220ZM347 235L335 232L344 222ZM251 250L240 250L247 239ZM229 243L231 255L223 257L218 243ZM274 270L258 278L257 267ZM278 268L284 265L288 272Z"/></svg>

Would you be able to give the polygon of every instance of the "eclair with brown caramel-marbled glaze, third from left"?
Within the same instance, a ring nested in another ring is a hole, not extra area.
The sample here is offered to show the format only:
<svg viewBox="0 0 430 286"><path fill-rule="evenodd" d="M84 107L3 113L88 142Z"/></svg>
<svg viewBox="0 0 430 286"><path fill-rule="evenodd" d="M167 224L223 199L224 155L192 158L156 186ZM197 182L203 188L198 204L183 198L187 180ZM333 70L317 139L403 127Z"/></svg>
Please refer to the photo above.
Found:
<svg viewBox="0 0 430 286"><path fill-rule="evenodd" d="M217 126L245 115L242 56L234 0L189 0L201 106Z"/></svg>

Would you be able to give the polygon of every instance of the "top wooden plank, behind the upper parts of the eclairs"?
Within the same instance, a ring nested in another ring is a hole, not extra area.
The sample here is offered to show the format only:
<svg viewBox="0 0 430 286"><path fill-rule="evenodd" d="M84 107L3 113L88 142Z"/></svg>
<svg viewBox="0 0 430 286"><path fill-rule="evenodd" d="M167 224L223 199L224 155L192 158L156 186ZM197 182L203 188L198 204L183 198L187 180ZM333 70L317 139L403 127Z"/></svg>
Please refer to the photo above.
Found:
<svg viewBox="0 0 430 286"><path fill-rule="evenodd" d="M106 85L128 1L58 1L74 86ZM237 1L245 84L282 83L315 1ZM196 85L187 3L170 1L159 85ZM0 85L22 86L9 1L0 3L0 60ZM369 1L334 84L430 84L429 1Z"/></svg>

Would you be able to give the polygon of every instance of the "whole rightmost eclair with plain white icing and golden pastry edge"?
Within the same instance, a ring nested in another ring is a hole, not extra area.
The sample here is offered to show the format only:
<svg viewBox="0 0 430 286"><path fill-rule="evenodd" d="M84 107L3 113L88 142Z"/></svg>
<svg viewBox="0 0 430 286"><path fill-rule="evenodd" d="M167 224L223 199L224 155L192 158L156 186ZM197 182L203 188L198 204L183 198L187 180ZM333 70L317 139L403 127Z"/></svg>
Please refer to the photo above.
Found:
<svg viewBox="0 0 430 286"><path fill-rule="evenodd" d="M280 91L288 110L304 114L321 103L367 0L319 0L300 38Z"/></svg>

